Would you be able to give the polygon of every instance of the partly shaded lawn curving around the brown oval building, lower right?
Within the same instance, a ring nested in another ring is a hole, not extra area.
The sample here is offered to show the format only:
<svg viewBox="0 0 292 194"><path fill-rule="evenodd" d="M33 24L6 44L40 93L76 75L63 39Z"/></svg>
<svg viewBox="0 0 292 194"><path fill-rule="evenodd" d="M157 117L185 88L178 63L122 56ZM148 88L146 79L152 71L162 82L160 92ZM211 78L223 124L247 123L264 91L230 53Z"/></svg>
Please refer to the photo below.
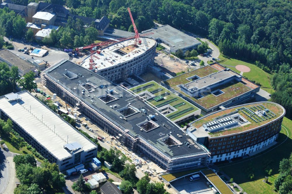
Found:
<svg viewBox="0 0 292 194"><path fill-rule="evenodd" d="M288 139L283 144L273 150L271 150L272 148L269 148L268 150L263 151L263 153L259 153L248 160L232 162L231 166L226 166L230 164L223 164L221 165L220 170L233 178L234 182L239 184L239 186L241 186L247 193L277 193L274 191L274 181L279 175L279 162L283 158L288 158L292 152L292 121L284 117L282 126L286 127L289 133ZM282 127L282 130L279 133L279 138L277 140L279 143L283 142L287 137L287 132L284 127ZM277 145L278 144L275 146ZM272 175L269 177L269 184L262 182L266 176L265 168L267 165L273 170ZM245 169L248 167L253 167L254 179L252 181L248 178L247 172L245 172Z"/></svg>

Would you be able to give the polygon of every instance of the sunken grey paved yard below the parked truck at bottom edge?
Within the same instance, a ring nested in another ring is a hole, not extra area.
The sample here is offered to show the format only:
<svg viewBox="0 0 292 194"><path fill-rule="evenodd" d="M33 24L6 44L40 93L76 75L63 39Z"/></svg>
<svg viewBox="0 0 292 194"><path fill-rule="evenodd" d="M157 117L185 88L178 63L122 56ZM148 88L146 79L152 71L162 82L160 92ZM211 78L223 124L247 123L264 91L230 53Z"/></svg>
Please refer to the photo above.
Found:
<svg viewBox="0 0 292 194"><path fill-rule="evenodd" d="M213 190L206 184L207 179L201 175L201 179L190 181L189 176L171 182L171 185L176 188L181 194L213 194Z"/></svg>

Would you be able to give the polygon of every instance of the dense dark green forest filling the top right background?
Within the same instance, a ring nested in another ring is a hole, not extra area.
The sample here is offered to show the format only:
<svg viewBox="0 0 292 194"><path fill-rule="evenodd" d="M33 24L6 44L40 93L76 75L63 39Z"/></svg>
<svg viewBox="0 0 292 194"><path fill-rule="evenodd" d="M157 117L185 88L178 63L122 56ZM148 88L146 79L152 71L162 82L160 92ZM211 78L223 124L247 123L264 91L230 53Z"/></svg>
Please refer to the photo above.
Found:
<svg viewBox="0 0 292 194"><path fill-rule="evenodd" d="M126 9L130 7L139 32L150 29L154 26L152 21L157 20L178 29L206 35L219 45L223 54L252 62L259 61L271 71L279 70L283 63L292 62L291 1L46 1L67 5L71 13L82 16L101 18L107 15L112 27L133 31ZM79 29L76 26L69 27L71 30ZM69 33L74 43L79 41L75 41L76 34ZM66 37L68 34L61 35ZM78 32L79 38L80 35L82 33Z"/></svg>

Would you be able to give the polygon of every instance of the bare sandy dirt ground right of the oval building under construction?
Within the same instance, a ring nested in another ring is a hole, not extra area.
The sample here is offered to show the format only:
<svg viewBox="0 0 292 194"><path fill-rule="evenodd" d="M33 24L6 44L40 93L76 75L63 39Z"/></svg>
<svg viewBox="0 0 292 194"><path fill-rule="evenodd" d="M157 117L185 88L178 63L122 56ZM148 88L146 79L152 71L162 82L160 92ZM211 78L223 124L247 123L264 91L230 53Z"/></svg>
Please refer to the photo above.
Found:
<svg viewBox="0 0 292 194"><path fill-rule="evenodd" d="M178 73L193 68L180 60L172 59L164 53L158 53L158 55L154 58L154 63L157 63L163 71L169 74L171 74L171 72Z"/></svg>

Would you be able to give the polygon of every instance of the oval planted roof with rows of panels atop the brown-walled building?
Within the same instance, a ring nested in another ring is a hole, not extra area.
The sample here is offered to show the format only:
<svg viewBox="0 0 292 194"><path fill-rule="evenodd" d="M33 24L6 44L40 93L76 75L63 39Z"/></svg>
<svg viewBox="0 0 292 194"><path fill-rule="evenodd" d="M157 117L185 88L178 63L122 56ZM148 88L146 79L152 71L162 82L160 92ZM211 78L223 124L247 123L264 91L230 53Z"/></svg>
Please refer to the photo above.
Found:
<svg viewBox="0 0 292 194"><path fill-rule="evenodd" d="M218 137L223 135L230 135L233 133L244 132L256 127L260 127L262 125L269 123L270 121L276 120L279 117L284 116L284 113L285 109L281 105L276 103L272 102L251 103L217 111L215 113L212 113L210 115L207 115L196 120L191 125L195 127L193 134L196 134L196 136ZM237 117L238 115L241 118ZM228 120L229 117L232 117L232 120L236 121L233 122L234 125L228 126L228 124L231 124L231 122ZM223 121L221 121L222 119ZM209 132L205 130L206 125L214 126L216 128L216 126L222 124L223 125L227 124L226 127L223 126L225 127L224 129L214 130L214 132Z"/></svg>

